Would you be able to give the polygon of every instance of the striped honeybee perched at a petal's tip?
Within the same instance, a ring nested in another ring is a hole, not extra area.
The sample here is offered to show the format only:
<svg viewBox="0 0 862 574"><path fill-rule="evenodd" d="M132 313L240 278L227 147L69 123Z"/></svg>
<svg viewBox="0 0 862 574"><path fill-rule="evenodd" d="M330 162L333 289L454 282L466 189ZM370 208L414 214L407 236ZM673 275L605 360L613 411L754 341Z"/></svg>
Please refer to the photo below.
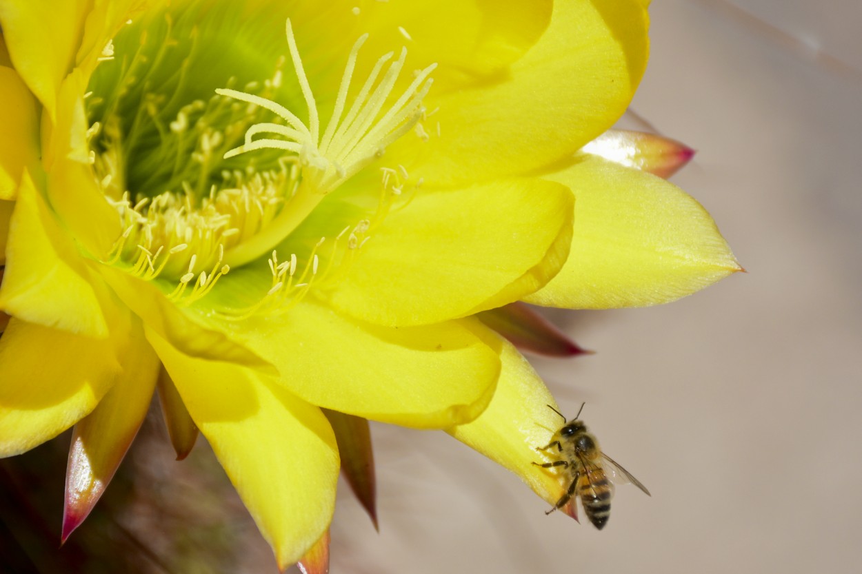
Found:
<svg viewBox="0 0 862 574"><path fill-rule="evenodd" d="M584 410L584 404L581 404L581 410ZM643 490L647 496L652 496L647 487L640 484L640 480L602 452L596 437L587 431L584 421L578 421L581 410L578 410L578 415L575 415L572 421L566 421L559 410L551 405L548 405L548 409L562 417L563 426L553 434L547 446L541 446L536 450L550 449L558 460L533 464L542 468L562 466L572 477L572 483L553 508L545 513L546 515L558 508L563 508L573 496L579 496L587 518L594 527L601 530L608 523L610 498L614 495L614 483L611 482L611 478L618 484L632 483Z"/></svg>

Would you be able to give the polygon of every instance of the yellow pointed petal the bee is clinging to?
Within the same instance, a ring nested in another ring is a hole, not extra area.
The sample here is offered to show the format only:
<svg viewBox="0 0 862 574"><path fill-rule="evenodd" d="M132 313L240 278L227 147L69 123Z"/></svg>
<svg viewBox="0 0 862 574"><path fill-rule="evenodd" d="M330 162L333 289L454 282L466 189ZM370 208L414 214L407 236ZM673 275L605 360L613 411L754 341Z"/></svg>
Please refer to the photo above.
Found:
<svg viewBox="0 0 862 574"><path fill-rule="evenodd" d="M489 459L515 472L546 502L563 495L564 480L533 465L546 462L536 448L545 446L560 427L553 396L514 346L505 343L500 355L503 371L497 392L478 419L447 432ZM570 514L571 515L571 514Z"/></svg>

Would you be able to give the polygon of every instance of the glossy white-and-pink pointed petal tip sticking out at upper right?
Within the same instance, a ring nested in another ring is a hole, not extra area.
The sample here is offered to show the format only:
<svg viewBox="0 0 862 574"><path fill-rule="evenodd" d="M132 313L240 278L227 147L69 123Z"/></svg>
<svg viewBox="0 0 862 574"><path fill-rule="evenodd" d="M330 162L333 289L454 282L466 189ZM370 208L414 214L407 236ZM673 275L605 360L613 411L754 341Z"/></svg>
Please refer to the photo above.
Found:
<svg viewBox="0 0 862 574"><path fill-rule="evenodd" d="M693 149L676 140L624 129L609 129L582 147L581 151L665 179L678 172L695 155Z"/></svg>

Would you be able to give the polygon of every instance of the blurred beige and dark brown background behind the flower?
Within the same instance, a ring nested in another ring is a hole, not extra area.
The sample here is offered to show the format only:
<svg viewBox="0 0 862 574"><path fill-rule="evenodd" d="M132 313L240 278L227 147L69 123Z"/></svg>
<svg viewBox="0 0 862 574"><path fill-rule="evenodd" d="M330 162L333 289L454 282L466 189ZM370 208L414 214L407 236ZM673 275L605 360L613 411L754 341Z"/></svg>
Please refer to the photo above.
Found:
<svg viewBox="0 0 862 574"><path fill-rule="evenodd" d="M554 315L597 354L534 364L569 416L587 402L582 418L652 498L617 489L597 532L546 516L517 477L445 434L374 425L380 532L342 485L334 572L858 569L862 4L661 0L651 14L625 125L644 129L641 117L696 148L673 181L748 273L664 307ZM0 464L2 522L50 517L34 540L0 533L0 571L70 571L75 552L95 574L276 571L203 440L173 464L155 415L60 553L68 437ZM37 480L53 495L20 508L15 489ZM18 543L44 552L31 561Z"/></svg>

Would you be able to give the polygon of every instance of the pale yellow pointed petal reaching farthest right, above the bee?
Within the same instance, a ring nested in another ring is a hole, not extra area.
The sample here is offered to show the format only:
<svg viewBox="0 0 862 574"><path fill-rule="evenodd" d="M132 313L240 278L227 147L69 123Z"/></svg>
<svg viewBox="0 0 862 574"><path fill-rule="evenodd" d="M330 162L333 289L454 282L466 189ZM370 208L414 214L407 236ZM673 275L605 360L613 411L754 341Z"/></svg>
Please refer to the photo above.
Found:
<svg viewBox="0 0 862 574"><path fill-rule="evenodd" d="M575 236L563 270L528 303L667 303L741 270L706 210L664 179L590 156L546 177L575 194Z"/></svg>

